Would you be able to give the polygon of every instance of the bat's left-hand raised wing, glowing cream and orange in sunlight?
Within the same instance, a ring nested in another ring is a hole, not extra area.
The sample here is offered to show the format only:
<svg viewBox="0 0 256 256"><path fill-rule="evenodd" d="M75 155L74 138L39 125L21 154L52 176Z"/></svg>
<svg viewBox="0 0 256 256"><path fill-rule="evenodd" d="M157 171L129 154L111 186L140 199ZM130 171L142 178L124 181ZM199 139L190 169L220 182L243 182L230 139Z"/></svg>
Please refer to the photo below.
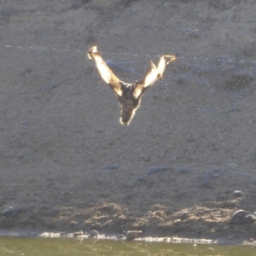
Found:
<svg viewBox="0 0 256 256"><path fill-rule="evenodd" d="M122 96L121 83L119 78L112 72L106 62L103 61L102 55L97 51L96 46L93 46L89 49L88 58L95 61L97 70L100 73L103 81L107 83L118 96Z"/></svg>

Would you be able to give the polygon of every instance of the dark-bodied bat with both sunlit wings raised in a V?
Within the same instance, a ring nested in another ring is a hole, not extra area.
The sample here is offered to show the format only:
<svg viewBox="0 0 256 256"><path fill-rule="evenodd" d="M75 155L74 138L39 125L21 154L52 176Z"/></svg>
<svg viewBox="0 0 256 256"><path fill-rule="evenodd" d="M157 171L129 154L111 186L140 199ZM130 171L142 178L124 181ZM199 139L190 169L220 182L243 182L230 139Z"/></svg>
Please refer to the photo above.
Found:
<svg viewBox="0 0 256 256"><path fill-rule="evenodd" d="M97 51L97 47L93 46L88 51L89 59L95 61L96 68L102 77L102 80L110 86L114 93L119 97L119 105L121 107L120 123L129 125L137 108L139 108L143 93L153 85L157 80L163 77L166 66L176 61L175 55L162 55L157 67L152 61L148 67L148 71L141 81L135 81L132 84L121 81L108 67L102 59L101 53Z"/></svg>

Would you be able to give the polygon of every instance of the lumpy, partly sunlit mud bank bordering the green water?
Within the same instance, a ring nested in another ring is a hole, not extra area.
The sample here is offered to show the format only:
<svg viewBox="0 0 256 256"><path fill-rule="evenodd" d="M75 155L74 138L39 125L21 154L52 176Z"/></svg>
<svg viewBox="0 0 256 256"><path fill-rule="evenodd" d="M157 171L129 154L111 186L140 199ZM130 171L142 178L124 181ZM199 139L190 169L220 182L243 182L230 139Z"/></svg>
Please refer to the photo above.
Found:
<svg viewBox="0 0 256 256"><path fill-rule="evenodd" d="M61 212L55 210L55 216L45 216L45 212L43 215L32 209L26 212L25 209L10 207L1 214L4 216L2 228L5 229L1 231L1 234L3 236L9 234L9 236L78 236L101 239L143 239L143 241L196 241L197 243L254 242L256 217L243 210L236 211L230 218L224 216L228 214L228 210L224 212L224 210L208 207L194 207L169 216L166 216L163 209L157 209L148 212L146 216L137 218L133 218L135 213L129 215L125 210L127 209L114 204L106 204L89 211L72 208L66 211L62 209ZM20 227L30 231L20 232ZM31 231L39 229L61 230L61 233ZM73 232L68 234L70 231ZM113 234L113 231L117 235L108 236L108 234ZM187 240L179 238L180 236L187 237Z"/></svg>

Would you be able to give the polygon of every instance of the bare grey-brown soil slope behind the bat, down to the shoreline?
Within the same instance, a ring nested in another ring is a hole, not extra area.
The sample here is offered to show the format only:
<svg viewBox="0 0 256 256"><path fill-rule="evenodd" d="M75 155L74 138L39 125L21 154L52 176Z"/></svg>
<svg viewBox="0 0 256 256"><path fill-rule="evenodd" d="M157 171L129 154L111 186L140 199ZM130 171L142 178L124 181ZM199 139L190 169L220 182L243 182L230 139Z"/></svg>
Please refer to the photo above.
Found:
<svg viewBox="0 0 256 256"><path fill-rule="evenodd" d="M255 238L230 224L256 211L253 0L0 3L1 229ZM142 75L158 55L185 58L125 127L95 44Z"/></svg>

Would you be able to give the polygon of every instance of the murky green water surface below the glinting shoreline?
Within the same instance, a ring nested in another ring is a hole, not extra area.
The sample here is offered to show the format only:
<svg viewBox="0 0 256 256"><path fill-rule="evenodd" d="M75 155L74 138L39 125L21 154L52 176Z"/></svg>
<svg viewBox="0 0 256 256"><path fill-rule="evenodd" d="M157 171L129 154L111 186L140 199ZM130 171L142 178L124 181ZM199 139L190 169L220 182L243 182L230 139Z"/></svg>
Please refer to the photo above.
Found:
<svg viewBox="0 0 256 256"><path fill-rule="evenodd" d="M0 255L178 255L178 256L256 256L256 247L193 245L140 241L96 241L70 238L0 237Z"/></svg>

